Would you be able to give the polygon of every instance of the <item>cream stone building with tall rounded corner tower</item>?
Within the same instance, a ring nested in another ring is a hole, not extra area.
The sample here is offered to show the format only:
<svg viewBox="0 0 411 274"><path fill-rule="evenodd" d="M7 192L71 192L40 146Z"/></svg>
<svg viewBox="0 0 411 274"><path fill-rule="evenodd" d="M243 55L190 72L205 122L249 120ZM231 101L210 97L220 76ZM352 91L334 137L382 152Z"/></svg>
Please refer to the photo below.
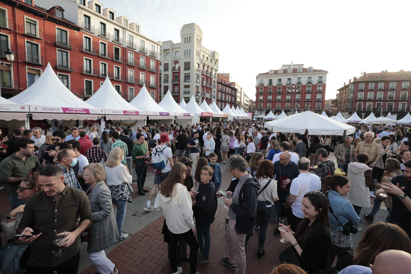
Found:
<svg viewBox="0 0 411 274"><path fill-rule="evenodd" d="M180 30L180 43L163 41L160 46L161 97L170 90L176 102L216 100L219 54L203 46L203 32L195 23Z"/></svg>

